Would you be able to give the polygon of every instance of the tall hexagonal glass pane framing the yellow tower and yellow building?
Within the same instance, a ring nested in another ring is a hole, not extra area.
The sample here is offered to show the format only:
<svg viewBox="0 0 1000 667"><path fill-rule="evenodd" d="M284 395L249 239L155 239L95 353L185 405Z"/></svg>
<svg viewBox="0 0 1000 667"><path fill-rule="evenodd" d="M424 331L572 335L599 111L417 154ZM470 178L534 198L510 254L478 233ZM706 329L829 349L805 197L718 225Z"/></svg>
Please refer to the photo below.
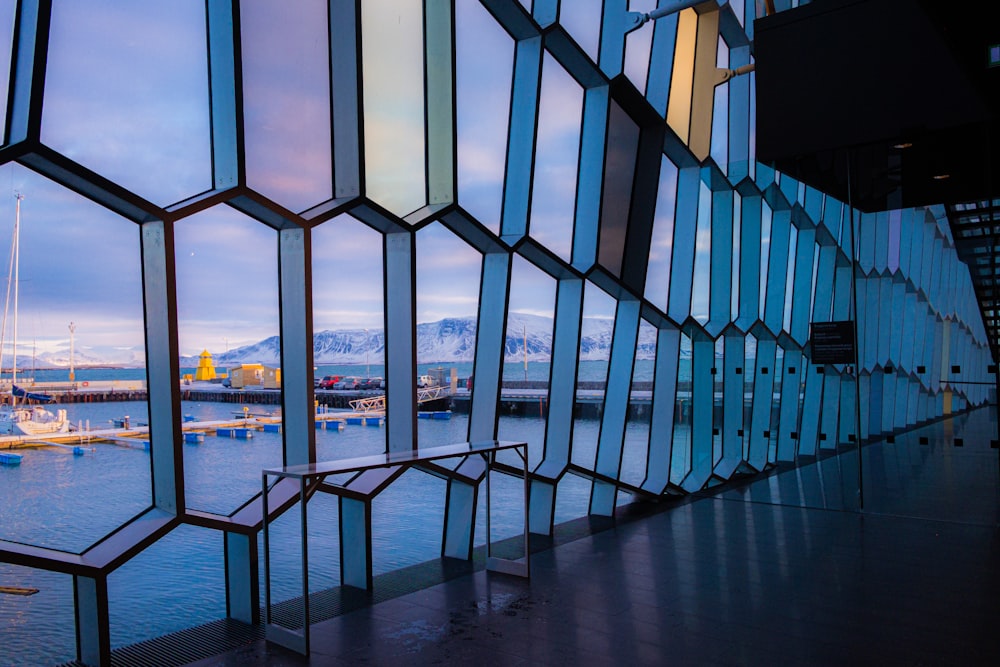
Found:
<svg viewBox="0 0 1000 667"><path fill-rule="evenodd" d="M280 424L277 243L274 229L228 206L174 226L182 387L218 396L182 406L185 429L207 431L183 449L194 509L229 514L260 492L262 468L282 465L281 434L264 428ZM214 372L199 367L206 352ZM197 426L216 421L225 427Z"/></svg>

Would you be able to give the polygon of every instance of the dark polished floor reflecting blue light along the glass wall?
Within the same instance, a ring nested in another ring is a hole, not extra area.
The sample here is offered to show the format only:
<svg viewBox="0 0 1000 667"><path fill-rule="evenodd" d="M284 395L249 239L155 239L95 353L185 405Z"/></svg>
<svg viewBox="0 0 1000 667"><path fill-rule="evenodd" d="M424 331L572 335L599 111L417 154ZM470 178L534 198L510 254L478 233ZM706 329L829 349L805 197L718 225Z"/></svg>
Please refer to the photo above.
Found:
<svg viewBox="0 0 1000 667"><path fill-rule="evenodd" d="M777 471L209 665L998 665L1000 449L981 409Z"/></svg>

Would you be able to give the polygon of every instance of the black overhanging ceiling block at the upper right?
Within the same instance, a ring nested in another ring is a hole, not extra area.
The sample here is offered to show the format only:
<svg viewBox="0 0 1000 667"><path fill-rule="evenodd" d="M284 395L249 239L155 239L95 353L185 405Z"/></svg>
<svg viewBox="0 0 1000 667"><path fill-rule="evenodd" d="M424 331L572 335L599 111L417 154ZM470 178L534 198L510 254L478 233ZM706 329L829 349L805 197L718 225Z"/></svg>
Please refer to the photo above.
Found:
<svg viewBox="0 0 1000 667"><path fill-rule="evenodd" d="M998 8L817 0L758 19L758 159L863 211L996 195Z"/></svg>

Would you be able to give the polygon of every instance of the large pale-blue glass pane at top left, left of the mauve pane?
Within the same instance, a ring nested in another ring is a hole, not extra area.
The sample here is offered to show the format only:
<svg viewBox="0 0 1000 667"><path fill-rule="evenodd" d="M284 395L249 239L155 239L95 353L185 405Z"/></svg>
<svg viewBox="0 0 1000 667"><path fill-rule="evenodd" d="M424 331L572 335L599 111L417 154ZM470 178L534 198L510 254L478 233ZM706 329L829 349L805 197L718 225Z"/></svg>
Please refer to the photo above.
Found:
<svg viewBox="0 0 1000 667"><path fill-rule="evenodd" d="M57 2L42 141L155 204L212 186L205 3Z"/></svg>

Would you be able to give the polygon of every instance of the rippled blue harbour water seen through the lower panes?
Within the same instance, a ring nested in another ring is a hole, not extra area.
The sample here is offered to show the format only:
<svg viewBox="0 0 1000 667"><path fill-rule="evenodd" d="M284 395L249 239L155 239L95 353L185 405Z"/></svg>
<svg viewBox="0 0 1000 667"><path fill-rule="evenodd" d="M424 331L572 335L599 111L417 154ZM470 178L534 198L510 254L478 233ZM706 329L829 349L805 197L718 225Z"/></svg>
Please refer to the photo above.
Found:
<svg viewBox="0 0 1000 667"><path fill-rule="evenodd" d="M133 425L142 423L147 414L146 404L138 402L65 407L74 424L89 422L95 429L107 428L125 415ZM268 407L254 406L253 411L266 412ZM228 419L237 410L238 406L221 403L182 406L186 418L199 421ZM642 480L648 427L642 420L628 424L622 463L626 481ZM457 413L450 420L421 419L418 438L422 446L462 442L467 440L467 428L467 417ZM539 417L505 416L499 437L529 442L529 463L534 466L541 456L544 428ZM574 462L593 464L599 429L597 420L577 420ZM219 514L237 509L260 491L261 469L281 465L281 438L279 433L258 431L248 440L209 435L200 444L183 445L189 507ZM354 425L342 431L317 429L316 443L319 460L379 453L385 449L385 429ZM19 449L20 466L0 467L0 539L78 553L149 507L147 451L113 444L87 447L82 456L62 448ZM516 457L508 462L520 465ZM522 481L494 473L491 484L492 538L519 534L524 525ZM557 494L556 522L584 516L589 494L588 481L567 475ZM630 500L625 493L619 495L619 502ZM374 500L375 574L439 557L444 498L443 480L410 471ZM309 576L314 591L339 583L336 503L336 497L327 494L310 502ZM477 545L486 539L483 498L479 507ZM272 526L276 601L300 590L297 517L297 512L286 513ZM217 531L181 526L112 573L108 580L112 645L125 646L223 618L222 542ZM0 564L0 586L39 589L29 597L0 595L0 665L56 664L75 658L70 576Z"/></svg>

